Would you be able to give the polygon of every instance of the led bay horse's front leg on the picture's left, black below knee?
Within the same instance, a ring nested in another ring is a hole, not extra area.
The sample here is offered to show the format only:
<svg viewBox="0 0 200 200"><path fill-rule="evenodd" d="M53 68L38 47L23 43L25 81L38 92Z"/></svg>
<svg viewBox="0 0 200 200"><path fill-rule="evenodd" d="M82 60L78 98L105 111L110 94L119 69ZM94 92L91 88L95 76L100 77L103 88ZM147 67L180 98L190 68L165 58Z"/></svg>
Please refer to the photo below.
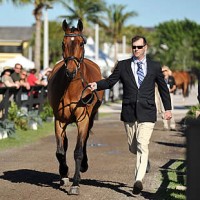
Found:
<svg viewBox="0 0 200 200"><path fill-rule="evenodd" d="M68 186L68 166L66 163L66 151L68 148L68 139L66 136L66 125L55 120L55 136L57 143L56 157L59 162L60 185Z"/></svg>

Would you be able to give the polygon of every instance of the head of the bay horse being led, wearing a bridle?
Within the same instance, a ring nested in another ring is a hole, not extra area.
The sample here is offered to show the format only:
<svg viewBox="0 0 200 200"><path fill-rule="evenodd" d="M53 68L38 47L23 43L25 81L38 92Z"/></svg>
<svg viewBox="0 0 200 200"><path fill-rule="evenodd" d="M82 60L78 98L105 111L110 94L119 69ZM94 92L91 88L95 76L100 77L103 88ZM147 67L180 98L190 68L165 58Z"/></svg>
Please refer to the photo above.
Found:
<svg viewBox="0 0 200 200"><path fill-rule="evenodd" d="M86 38L82 35L83 23L79 20L76 28L70 28L69 24L64 20L62 28L65 32L62 50L66 66L66 75L68 78L73 79L84 59L84 44L86 44Z"/></svg>

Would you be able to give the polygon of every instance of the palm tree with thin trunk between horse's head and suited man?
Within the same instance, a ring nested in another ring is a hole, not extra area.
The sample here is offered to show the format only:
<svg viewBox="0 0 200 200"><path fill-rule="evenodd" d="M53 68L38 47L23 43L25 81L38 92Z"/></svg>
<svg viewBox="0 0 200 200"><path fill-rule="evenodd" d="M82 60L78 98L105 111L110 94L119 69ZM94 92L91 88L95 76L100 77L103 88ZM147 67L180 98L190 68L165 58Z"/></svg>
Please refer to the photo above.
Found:
<svg viewBox="0 0 200 200"><path fill-rule="evenodd" d="M107 20L104 24L104 29L107 35L110 35L113 39L115 61L117 60L117 42L121 41L125 22L129 18L137 16L137 13L134 11L124 13L125 8L126 6L121 4L112 4L107 8Z"/></svg>

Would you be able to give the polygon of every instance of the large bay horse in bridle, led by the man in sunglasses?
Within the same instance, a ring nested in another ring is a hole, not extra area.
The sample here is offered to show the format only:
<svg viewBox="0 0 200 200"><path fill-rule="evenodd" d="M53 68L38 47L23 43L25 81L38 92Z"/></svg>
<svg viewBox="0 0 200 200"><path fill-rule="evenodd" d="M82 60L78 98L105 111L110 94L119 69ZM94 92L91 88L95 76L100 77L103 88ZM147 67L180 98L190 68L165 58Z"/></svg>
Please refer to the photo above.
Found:
<svg viewBox="0 0 200 200"><path fill-rule="evenodd" d="M63 59L53 68L48 77L48 100L55 117L56 157L59 162L60 184L68 185L68 165L66 152L68 138L66 128L75 123L78 130L74 149L75 172L69 194L80 193L80 172L88 169L87 140L93 127L94 117L103 99L102 91L91 92L89 82L102 78L99 66L84 58L86 38L82 34L83 23L79 19L77 27L62 23Z"/></svg>

